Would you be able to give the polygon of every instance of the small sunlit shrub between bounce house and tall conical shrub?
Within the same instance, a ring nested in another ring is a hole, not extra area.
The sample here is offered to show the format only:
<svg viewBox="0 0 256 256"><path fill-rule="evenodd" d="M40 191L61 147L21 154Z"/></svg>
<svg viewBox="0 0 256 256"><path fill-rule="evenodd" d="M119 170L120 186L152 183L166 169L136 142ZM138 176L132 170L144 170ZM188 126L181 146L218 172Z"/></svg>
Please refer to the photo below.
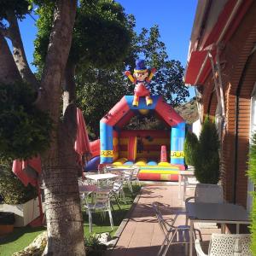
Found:
<svg viewBox="0 0 256 256"><path fill-rule="evenodd" d="M184 154L186 164L189 166L195 166L195 148L197 146L198 139L193 132L187 132L184 142Z"/></svg>

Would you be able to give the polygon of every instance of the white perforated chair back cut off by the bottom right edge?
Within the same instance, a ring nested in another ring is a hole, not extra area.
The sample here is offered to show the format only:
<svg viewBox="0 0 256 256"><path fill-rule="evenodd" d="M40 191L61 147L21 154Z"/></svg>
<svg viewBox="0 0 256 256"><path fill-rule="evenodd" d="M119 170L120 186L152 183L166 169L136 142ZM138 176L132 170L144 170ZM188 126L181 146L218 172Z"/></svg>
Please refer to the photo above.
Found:
<svg viewBox="0 0 256 256"><path fill-rule="evenodd" d="M201 243L195 240L197 256L252 256L249 234L212 234L208 254L201 249Z"/></svg>

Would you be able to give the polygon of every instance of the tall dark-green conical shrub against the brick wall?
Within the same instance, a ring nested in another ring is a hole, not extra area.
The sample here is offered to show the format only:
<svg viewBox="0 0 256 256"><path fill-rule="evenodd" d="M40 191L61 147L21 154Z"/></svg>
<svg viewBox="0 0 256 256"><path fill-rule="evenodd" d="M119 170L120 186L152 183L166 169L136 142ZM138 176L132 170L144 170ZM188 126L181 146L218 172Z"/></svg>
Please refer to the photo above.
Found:
<svg viewBox="0 0 256 256"><path fill-rule="evenodd" d="M195 177L201 183L217 184L219 180L218 132L215 124L207 117L199 143L195 147Z"/></svg>

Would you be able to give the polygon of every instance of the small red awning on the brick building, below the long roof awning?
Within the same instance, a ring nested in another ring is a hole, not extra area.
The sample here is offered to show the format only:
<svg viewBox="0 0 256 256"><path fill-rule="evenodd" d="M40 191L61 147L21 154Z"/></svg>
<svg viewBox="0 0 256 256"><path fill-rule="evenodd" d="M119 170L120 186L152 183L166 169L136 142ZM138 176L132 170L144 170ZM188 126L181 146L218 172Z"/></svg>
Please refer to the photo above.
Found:
<svg viewBox="0 0 256 256"><path fill-rule="evenodd" d="M189 63L187 66L187 70L185 73L185 79L184 82L185 84L192 84L192 85L197 85L197 84L202 84L204 79L206 78L206 74L208 74L209 68L211 66L210 60L207 58L208 50L196 50L192 51ZM207 62L205 63L206 65L204 67L203 63L207 58ZM202 68L202 70L201 70ZM196 81L197 76L201 72L201 75ZM195 84L195 82L197 82Z"/></svg>

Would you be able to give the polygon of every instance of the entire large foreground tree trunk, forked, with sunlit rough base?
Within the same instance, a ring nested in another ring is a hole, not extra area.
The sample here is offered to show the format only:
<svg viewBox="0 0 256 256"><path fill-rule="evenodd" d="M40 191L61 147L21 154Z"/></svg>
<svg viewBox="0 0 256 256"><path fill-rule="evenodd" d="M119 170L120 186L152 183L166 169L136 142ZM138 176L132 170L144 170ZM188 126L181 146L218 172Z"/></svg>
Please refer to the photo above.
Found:
<svg viewBox="0 0 256 256"><path fill-rule="evenodd" d="M71 46L76 1L56 3L54 25L44 65L41 86L44 96L38 106L49 112L55 130L51 147L42 155L46 203L47 255L85 255L80 207L78 167L73 149L76 137L76 108L70 105L60 121L61 77Z"/></svg>

